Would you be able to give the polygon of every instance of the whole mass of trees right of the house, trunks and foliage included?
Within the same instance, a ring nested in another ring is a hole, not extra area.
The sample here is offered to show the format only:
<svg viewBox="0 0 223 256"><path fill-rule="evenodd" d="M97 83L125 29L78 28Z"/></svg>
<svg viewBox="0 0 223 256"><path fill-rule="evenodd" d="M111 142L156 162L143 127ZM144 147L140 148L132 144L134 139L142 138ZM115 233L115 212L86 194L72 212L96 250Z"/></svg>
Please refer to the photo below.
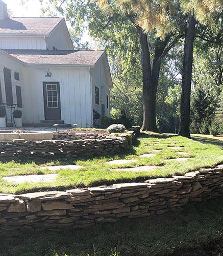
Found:
<svg viewBox="0 0 223 256"><path fill-rule="evenodd" d="M45 3L43 13L66 16L76 49L107 51L114 88L112 120L102 118L103 126L178 132L180 125L186 137L223 133L220 0ZM83 42L86 31L92 40Z"/></svg>

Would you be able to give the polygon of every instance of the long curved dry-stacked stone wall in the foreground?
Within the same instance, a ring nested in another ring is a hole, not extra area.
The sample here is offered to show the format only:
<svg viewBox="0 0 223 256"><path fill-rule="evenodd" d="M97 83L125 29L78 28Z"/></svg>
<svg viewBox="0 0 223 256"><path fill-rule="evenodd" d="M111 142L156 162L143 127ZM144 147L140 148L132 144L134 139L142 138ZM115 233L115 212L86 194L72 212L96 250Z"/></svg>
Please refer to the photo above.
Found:
<svg viewBox="0 0 223 256"><path fill-rule="evenodd" d="M223 165L184 176L23 195L0 194L0 236L156 216L223 194Z"/></svg>

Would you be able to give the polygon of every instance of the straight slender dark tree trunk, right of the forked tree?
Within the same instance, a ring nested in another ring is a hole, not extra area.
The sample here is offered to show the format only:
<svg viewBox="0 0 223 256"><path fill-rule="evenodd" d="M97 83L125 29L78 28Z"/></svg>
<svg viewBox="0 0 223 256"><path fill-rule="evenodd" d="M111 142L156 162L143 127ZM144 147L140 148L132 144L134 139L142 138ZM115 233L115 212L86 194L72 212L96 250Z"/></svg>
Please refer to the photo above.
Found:
<svg viewBox="0 0 223 256"><path fill-rule="evenodd" d="M196 20L188 14L185 30L179 135L190 138L190 93Z"/></svg>

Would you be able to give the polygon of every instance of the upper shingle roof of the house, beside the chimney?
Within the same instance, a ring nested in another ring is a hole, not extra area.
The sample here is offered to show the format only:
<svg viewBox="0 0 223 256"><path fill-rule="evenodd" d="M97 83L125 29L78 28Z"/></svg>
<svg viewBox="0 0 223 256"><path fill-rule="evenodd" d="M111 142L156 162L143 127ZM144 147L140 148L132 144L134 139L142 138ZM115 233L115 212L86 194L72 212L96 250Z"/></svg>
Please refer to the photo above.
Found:
<svg viewBox="0 0 223 256"><path fill-rule="evenodd" d="M1 34L49 34L63 18L7 18L0 20Z"/></svg>

